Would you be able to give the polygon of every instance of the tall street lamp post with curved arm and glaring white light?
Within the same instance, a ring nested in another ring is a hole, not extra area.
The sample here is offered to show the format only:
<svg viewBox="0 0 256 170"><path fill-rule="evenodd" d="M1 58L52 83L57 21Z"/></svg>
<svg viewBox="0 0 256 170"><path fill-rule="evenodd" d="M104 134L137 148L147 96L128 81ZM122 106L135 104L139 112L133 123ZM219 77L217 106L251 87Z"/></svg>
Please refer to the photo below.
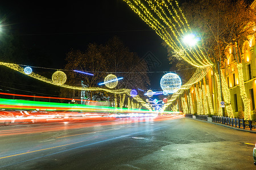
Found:
<svg viewBox="0 0 256 170"><path fill-rule="evenodd" d="M196 37L195 35L191 34L191 35L187 35L187 36L184 36L183 38L183 42L189 46L194 46L197 44L197 42L199 41L200 39L198 37ZM215 52L213 49L211 48L208 48L204 45L200 45L200 48L203 48L205 50L205 53L207 54L207 58L209 59L209 61L212 63L212 61L210 60L209 56L208 56L208 52L206 49L208 50L212 50L214 56L216 56ZM221 58L220 58L221 60ZM223 99L223 95L222 95L222 83L221 83L221 71L220 71L220 61L215 61L215 63L217 63L217 69L218 69L218 75L219 75L219 79L220 79L220 92L221 92L221 101L224 101ZM225 116L225 108L222 108L222 116Z"/></svg>

